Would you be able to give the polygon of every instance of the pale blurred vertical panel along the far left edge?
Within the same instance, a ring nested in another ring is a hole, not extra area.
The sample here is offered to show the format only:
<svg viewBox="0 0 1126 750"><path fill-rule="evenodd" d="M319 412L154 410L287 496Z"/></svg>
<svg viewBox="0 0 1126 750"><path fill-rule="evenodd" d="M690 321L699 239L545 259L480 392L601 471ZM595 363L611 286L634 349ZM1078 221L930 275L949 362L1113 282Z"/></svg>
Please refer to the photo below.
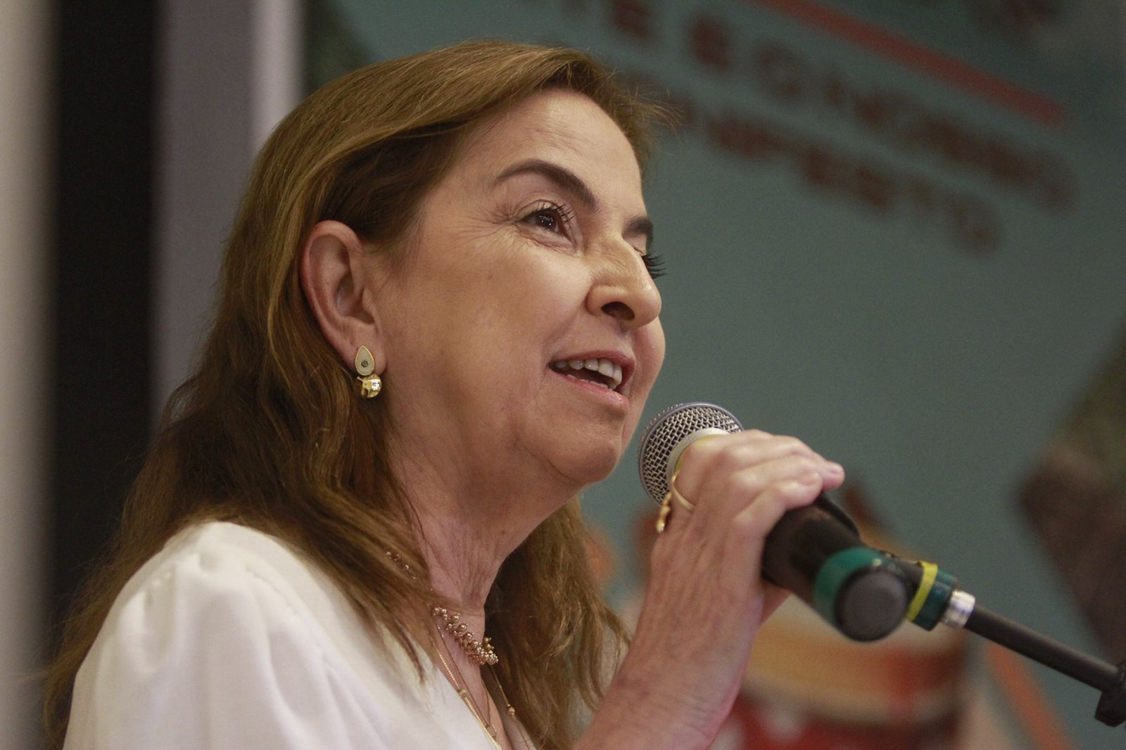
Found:
<svg viewBox="0 0 1126 750"><path fill-rule="evenodd" d="M46 6L0 2L0 748L38 735L44 622Z"/></svg>

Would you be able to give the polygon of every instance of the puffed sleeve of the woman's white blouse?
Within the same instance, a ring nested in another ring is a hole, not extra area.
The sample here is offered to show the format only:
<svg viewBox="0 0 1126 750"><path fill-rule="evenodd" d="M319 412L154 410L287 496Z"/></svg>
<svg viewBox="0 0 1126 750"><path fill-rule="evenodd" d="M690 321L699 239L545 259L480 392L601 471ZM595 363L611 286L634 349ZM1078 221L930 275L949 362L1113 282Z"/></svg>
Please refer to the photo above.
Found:
<svg viewBox="0 0 1126 750"><path fill-rule="evenodd" d="M79 671L65 748L358 750L349 699L268 575L186 551L119 597Z"/></svg>

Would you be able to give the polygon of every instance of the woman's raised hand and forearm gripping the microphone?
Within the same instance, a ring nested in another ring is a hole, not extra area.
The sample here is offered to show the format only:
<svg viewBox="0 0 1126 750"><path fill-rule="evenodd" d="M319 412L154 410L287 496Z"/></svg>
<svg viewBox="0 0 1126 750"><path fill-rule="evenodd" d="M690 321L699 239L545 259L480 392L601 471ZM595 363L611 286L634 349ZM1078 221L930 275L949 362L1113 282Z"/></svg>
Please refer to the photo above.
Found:
<svg viewBox="0 0 1126 750"><path fill-rule="evenodd" d="M721 430L685 453L676 486L695 508L677 506L653 545L645 599L611 690L615 705L629 696L624 716L643 700L676 723L676 736L659 747L703 748L714 739L760 624L786 596L760 572L767 534L843 479L839 465L799 440L754 430Z"/></svg>

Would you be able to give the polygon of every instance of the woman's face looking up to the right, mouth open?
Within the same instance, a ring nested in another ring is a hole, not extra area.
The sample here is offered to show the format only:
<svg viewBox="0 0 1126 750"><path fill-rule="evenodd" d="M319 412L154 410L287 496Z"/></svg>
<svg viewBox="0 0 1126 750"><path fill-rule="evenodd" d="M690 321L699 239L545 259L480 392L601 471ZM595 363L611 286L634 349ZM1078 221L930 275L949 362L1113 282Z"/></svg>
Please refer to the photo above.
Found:
<svg viewBox="0 0 1126 750"><path fill-rule="evenodd" d="M587 97L471 133L375 297L410 455L471 481L605 477L664 357L651 234L633 150Z"/></svg>

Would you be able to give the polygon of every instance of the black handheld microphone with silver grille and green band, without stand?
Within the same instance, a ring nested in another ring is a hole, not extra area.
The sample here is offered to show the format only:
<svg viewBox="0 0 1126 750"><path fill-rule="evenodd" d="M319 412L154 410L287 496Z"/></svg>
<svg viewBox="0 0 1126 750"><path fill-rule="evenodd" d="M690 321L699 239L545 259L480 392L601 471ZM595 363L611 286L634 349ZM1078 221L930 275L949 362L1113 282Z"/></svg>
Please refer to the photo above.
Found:
<svg viewBox="0 0 1126 750"><path fill-rule="evenodd" d="M688 446L742 429L734 414L715 404L665 409L645 427L637 449L645 491L660 503ZM877 641L895 630L914 595L903 569L861 542L852 519L824 494L787 511L767 535L762 577L793 591L854 641Z"/></svg>

